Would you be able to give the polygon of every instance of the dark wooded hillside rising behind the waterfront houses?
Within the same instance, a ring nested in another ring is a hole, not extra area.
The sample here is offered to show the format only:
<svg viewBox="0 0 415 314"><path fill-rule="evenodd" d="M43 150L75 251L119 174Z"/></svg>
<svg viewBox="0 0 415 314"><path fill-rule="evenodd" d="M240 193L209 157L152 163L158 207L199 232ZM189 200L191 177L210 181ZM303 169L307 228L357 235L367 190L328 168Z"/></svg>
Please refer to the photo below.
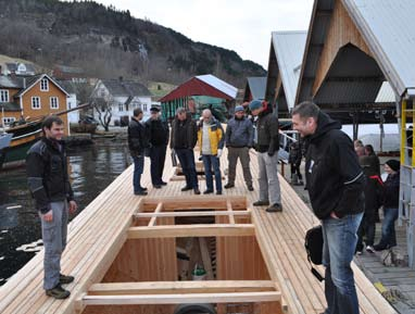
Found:
<svg viewBox="0 0 415 314"><path fill-rule="evenodd" d="M83 67L92 77L179 84L212 73L238 87L264 68L235 51L93 1L0 0L0 53L52 68Z"/></svg>

